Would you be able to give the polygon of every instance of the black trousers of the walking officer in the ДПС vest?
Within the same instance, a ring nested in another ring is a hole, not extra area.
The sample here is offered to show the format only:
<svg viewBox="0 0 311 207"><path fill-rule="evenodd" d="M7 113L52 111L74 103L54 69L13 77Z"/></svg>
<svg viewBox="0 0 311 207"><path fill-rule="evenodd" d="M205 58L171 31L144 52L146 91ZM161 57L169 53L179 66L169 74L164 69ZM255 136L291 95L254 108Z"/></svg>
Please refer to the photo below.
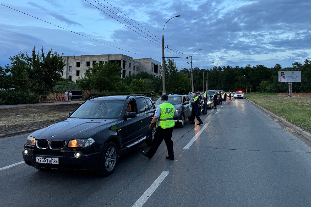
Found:
<svg viewBox="0 0 311 207"><path fill-rule="evenodd" d="M161 127L158 127L156 129L156 133L155 133L155 137L152 142L152 146L147 152L148 158L152 158L153 155L156 154L156 150L158 150L158 147L162 143L163 139L165 141L169 157L174 158L173 141L172 141L173 128L174 127L163 129Z"/></svg>

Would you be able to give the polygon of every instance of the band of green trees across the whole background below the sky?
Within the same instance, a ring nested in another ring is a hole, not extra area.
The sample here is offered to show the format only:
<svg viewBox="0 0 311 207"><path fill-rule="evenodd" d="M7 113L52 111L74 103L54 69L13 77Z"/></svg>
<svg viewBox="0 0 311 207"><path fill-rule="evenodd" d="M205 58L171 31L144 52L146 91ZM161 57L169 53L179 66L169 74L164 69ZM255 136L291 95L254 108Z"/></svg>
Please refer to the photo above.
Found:
<svg viewBox="0 0 311 207"><path fill-rule="evenodd" d="M47 94L50 91L60 89L67 90L97 90L109 94L131 94L135 92L144 92L150 94L153 90L162 94L162 67L160 68L160 78L156 78L147 72L140 72L137 75L128 75L121 78L121 66L117 62L94 63L89 68L89 72L78 78L77 83L64 79L59 71L63 71L65 63L63 54L53 51L53 48L44 53L43 48L40 51L35 50L31 54L20 52L8 59L11 61L5 67L0 66L0 89L15 88L15 92L30 95ZM303 64L295 62L292 67L282 68L276 64L268 68L263 65L246 65L245 67L214 66L209 69L193 68L194 90L206 90L206 79L208 79L208 89L217 89L225 91L242 90L245 92L245 80L248 92L274 92L286 93L288 83L278 82L278 71L301 71L302 82L292 84L293 92L310 93L311 92L311 61L305 60ZM174 59L165 61L165 82L166 93L171 92L185 94L191 92L191 69L181 68L174 62ZM203 86L204 85L204 86ZM7 94L10 94L7 91ZM1 99L1 98L0 98ZM3 94L2 102L3 104ZM21 99L21 98L20 98ZM25 98L24 98L25 99ZM35 99L35 98L33 98ZM14 101L13 101L14 102Z"/></svg>

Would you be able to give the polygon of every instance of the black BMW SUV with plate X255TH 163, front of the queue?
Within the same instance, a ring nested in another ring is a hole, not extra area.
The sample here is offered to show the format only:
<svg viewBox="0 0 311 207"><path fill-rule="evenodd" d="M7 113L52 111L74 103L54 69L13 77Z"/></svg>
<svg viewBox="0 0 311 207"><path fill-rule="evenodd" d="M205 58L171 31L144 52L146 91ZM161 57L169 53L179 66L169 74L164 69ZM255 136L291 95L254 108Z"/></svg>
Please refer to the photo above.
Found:
<svg viewBox="0 0 311 207"><path fill-rule="evenodd" d="M118 157L134 146L152 144L148 128L155 106L145 95L93 96L62 122L27 137L22 152L37 169L84 169L112 174Z"/></svg>

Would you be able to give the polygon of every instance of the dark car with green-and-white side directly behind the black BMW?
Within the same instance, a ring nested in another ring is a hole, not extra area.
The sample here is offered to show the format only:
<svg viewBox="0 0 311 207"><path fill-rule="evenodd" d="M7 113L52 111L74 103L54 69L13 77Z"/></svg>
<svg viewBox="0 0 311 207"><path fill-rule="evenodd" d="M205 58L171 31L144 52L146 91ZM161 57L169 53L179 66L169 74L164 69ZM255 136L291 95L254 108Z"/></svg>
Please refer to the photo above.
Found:
<svg viewBox="0 0 311 207"><path fill-rule="evenodd" d="M183 127L185 124L185 119L188 118L189 121L191 119L191 110L192 106L190 102L187 99L186 95L178 95L178 94L169 94L169 103L173 104L175 109L178 112L178 120L181 122L177 122L179 127ZM161 97L158 98L155 102L155 106L157 107L160 105L161 102ZM175 124L176 126L176 124Z"/></svg>

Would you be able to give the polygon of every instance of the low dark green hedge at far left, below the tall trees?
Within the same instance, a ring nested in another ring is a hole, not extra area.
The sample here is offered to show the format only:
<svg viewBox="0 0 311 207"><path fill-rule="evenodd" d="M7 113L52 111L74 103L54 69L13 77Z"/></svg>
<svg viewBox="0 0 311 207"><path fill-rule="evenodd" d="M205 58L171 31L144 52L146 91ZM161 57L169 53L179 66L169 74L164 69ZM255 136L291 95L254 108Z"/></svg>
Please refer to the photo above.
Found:
<svg viewBox="0 0 311 207"><path fill-rule="evenodd" d="M19 91L0 91L0 105L35 104L38 94L25 94Z"/></svg>

